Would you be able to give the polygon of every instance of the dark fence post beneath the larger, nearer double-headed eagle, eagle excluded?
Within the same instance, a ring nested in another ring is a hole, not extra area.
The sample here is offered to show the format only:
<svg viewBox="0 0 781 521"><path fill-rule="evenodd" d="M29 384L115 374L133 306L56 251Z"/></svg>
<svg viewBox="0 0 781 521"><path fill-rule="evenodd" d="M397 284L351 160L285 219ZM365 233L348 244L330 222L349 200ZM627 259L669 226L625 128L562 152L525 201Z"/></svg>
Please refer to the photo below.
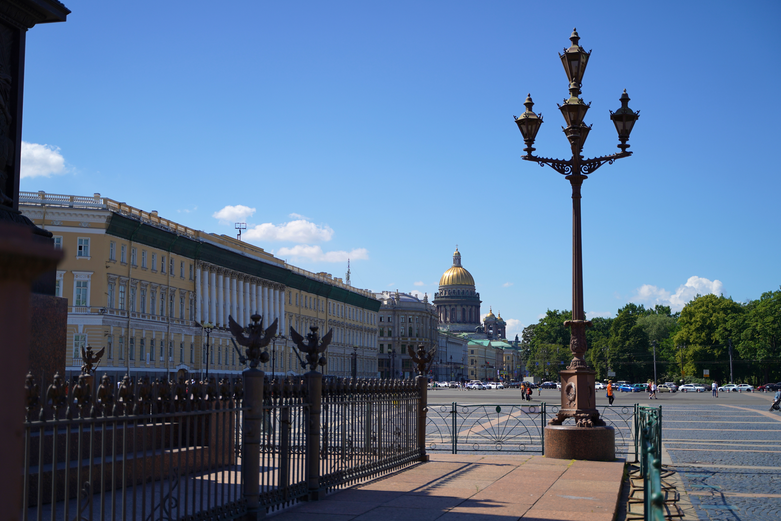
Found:
<svg viewBox="0 0 781 521"><path fill-rule="evenodd" d="M260 441L263 420L263 380L266 373L259 369L244 369L244 423L241 432L242 494L247 501L244 521L258 521L266 517L260 508Z"/></svg>

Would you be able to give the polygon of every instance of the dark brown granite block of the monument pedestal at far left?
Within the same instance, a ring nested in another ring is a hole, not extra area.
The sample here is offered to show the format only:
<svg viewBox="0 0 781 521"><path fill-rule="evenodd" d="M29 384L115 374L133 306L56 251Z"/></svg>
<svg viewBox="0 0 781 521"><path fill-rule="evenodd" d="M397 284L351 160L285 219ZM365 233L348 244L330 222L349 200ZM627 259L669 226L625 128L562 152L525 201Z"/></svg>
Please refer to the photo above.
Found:
<svg viewBox="0 0 781 521"><path fill-rule="evenodd" d="M51 384L58 372L65 377L67 338L68 299L31 294L28 370L39 384Z"/></svg>

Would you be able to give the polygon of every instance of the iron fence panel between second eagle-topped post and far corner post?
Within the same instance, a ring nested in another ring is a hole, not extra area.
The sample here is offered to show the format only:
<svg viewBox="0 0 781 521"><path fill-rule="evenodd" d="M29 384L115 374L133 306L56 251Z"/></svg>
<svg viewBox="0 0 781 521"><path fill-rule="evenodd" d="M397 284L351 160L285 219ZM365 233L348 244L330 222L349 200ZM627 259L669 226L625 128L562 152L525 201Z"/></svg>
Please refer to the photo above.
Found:
<svg viewBox="0 0 781 521"><path fill-rule="evenodd" d="M324 379L320 486L341 487L420 461L421 389L417 380Z"/></svg>

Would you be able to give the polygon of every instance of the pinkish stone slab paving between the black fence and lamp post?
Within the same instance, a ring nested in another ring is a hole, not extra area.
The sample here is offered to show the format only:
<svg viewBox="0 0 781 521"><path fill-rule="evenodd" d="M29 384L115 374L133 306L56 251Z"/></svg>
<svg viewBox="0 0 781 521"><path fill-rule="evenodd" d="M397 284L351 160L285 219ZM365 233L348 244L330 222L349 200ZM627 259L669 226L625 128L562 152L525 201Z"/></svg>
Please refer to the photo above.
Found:
<svg viewBox="0 0 781 521"><path fill-rule="evenodd" d="M509 454L430 458L271 517L274 521L612 521L624 473L623 460L584 462Z"/></svg>

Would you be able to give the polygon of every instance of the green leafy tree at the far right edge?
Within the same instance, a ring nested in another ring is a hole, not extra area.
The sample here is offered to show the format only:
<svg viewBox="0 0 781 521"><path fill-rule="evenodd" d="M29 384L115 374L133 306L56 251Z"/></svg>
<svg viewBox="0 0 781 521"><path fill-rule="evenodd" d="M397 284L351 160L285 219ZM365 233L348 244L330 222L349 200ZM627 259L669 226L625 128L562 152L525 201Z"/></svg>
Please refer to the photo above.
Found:
<svg viewBox="0 0 781 521"><path fill-rule="evenodd" d="M761 361L765 381L771 381L770 369L778 366L781 343L781 288L763 293L759 300L748 302L740 317L740 356Z"/></svg>

